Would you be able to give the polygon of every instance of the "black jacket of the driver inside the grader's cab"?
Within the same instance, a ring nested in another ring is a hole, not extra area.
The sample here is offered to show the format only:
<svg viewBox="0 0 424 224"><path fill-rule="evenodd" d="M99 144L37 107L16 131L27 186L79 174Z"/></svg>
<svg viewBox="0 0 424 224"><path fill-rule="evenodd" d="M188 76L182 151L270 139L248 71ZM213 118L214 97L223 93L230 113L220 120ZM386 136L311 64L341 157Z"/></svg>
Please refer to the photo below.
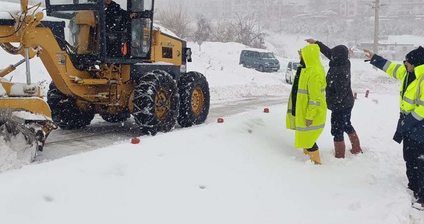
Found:
<svg viewBox="0 0 424 224"><path fill-rule="evenodd" d="M110 4L106 5L106 32L124 32L127 29L130 15L121 6L111 1Z"/></svg>

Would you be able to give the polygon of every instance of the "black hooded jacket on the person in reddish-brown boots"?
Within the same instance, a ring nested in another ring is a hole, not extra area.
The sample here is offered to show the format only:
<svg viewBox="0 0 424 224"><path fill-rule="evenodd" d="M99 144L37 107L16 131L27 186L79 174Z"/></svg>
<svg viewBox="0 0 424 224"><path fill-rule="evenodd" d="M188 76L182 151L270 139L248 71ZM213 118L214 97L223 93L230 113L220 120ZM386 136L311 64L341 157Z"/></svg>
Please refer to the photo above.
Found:
<svg viewBox="0 0 424 224"><path fill-rule="evenodd" d="M325 88L327 108L331 111L353 108L355 99L351 87L349 49L344 45L330 49L319 41L317 44L321 53L330 59L330 69L326 77L327 87Z"/></svg>

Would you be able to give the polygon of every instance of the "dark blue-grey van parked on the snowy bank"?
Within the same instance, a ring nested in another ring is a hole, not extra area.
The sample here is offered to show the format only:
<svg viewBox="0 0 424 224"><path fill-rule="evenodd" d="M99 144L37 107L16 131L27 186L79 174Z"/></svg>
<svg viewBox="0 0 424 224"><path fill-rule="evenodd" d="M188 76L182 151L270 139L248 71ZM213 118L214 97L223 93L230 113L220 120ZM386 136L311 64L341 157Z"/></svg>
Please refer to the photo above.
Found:
<svg viewBox="0 0 424 224"><path fill-rule="evenodd" d="M280 70L280 62L272 52L256 50L242 50L240 65L246 68L254 68L259 72L277 72Z"/></svg>

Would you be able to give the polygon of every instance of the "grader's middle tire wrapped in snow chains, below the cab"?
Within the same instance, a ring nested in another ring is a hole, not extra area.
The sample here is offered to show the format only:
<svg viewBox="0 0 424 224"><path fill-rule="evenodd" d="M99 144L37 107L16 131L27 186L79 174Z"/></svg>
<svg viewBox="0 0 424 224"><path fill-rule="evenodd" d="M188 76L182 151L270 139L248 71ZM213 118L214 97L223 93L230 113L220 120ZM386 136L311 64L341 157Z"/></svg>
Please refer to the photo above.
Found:
<svg viewBox="0 0 424 224"><path fill-rule="evenodd" d="M142 134L171 131L177 123L179 95L177 83L165 71L142 75L134 91L133 116Z"/></svg>

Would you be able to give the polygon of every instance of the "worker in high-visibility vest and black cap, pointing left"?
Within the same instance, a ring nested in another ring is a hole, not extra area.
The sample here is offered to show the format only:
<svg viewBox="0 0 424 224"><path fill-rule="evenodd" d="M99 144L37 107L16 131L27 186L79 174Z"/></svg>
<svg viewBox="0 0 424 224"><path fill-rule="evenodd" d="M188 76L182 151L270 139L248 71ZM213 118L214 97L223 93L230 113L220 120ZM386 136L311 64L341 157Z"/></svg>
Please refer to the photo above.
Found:
<svg viewBox="0 0 424 224"><path fill-rule="evenodd" d="M409 52L404 64L390 62L370 50L365 53L372 65L401 82L400 119L393 140L398 143L403 140L413 207L424 210L424 48L420 46Z"/></svg>

